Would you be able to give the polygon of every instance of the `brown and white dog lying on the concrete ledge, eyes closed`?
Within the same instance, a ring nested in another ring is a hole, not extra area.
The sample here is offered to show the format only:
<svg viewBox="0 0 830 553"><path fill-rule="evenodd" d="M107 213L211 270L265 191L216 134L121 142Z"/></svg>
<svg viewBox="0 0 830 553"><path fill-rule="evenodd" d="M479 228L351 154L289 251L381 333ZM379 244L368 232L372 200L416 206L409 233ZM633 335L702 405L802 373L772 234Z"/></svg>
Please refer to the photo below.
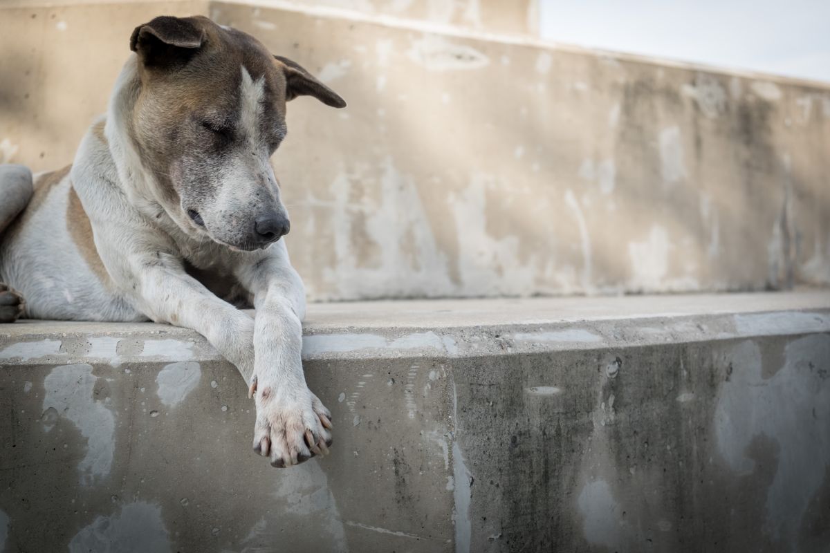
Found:
<svg viewBox="0 0 830 553"><path fill-rule="evenodd" d="M33 179L0 166L0 318L192 328L247 382L258 454L275 467L327 454L331 413L305 383L305 290L270 158L287 101L346 103L207 17L156 17L129 47L70 167Z"/></svg>

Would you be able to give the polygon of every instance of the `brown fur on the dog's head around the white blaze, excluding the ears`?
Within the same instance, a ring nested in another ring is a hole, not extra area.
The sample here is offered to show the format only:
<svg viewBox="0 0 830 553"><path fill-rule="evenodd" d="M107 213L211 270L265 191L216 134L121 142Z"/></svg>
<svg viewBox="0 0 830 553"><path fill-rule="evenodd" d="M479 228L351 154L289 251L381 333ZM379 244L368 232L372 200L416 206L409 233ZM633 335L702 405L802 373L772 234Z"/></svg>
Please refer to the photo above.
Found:
<svg viewBox="0 0 830 553"><path fill-rule="evenodd" d="M212 132L211 127L230 133L238 123L243 66L253 80L264 75L268 109L261 127L274 134L274 148L281 139L277 133L284 129L286 114L286 76L265 46L243 32L217 26L207 17L179 21L198 30L200 46L188 49L185 64L139 63L141 90L132 128L128 129L171 204L183 193L176 186L177 160L199 151L205 158L222 156L222 135Z"/></svg>

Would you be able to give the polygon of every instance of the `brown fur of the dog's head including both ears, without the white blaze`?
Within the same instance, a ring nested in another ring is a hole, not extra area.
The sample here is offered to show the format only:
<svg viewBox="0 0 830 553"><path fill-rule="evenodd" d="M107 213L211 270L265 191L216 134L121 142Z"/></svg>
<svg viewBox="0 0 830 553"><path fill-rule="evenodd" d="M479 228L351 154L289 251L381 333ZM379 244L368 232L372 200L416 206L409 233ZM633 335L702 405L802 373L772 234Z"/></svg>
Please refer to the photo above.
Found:
<svg viewBox="0 0 830 553"><path fill-rule="evenodd" d="M173 184L173 160L188 148L207 144L220 153L222 133L217 138L210 129L232 133L238 123L242 67L251 80L265 81L266 109L259 123L271 152L285 134L287 100L311 95L330 106L345 106L344 99L295 61L272 56L253 36L207 17L156 17L136 27L130 47L139 54L141 82L130 132L147 154L142 159L164 185ZM178 198L174 191L168 195L171 201Z"/></svg>

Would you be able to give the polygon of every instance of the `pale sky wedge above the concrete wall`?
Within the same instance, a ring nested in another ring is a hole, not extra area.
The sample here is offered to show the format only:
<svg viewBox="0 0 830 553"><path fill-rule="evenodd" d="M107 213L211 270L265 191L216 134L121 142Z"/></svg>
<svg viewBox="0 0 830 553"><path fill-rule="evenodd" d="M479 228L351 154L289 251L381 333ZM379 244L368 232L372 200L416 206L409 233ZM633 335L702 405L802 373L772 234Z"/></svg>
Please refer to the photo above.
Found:
<svg viewBox="0 0 830 553"><path fill-rule="evenodd" d="M830 82L830 0L540 0L546 40Z"/></svg>

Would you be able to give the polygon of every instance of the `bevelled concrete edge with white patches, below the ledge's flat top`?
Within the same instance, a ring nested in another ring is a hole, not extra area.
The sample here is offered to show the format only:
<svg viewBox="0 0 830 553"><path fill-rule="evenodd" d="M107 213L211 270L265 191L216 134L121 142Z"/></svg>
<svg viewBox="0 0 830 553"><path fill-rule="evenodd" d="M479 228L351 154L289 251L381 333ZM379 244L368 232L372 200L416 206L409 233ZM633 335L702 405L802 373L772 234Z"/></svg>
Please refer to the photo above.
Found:
<svg viewBox="0 0 830 553"><path fill-rule="evenodd" d="M71 323L69 332L0 334L0 364L76 362L119 366L134 362L222 361L196 332L154 323ZM733 340L830 332L830 308L608 318L529 324L457 324L449 327L306 327L303 359L500 356L569 350L623 349L665 343Z"/></svg>

